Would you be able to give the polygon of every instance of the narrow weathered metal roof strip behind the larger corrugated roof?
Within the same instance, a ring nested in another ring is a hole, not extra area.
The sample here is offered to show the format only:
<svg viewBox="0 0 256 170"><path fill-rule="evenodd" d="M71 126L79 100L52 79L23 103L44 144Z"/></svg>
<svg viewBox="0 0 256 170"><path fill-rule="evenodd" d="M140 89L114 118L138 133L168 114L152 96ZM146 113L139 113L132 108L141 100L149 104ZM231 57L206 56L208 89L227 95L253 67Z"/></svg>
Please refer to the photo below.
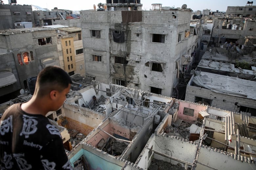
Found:
<svg viewBox="0 0 256 170"><path fill-rule="evenodd" d="M256 75L256 70L238 69L238 68L235 68L235 65L232 63L211 61L211 60L205 60L205 59L201 59L197 67L226 71L226 72L233 72L233 73Z"/></svg>

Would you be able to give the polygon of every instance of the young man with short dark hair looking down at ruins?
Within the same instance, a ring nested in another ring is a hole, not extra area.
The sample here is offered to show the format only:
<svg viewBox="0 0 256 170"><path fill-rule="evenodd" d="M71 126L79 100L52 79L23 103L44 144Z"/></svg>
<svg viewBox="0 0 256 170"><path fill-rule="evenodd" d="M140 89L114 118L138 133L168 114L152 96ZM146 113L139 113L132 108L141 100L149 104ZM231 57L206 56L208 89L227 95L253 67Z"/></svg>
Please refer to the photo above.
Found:
<svg viewBox="0 0 256 170"><path fill-rule="evenodd" d="M1 169L72 169L59 130L45 117L63 105L71 83L60 67L48 66L38 74L32 98L4 112L0 122Z"/></svg>

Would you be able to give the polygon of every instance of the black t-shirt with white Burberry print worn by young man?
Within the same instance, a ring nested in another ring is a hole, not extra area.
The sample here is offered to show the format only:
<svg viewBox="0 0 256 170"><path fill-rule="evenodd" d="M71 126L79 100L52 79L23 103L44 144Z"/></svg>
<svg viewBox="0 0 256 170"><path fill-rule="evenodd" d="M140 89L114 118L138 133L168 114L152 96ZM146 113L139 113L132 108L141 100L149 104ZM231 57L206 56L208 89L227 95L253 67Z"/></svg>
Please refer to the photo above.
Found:
<svg viewBox="0 0 256 170"><path fill-rule="evenodd" d="M29 114L21 103L6 110L0 122L1 169L73 169L58 128L43 115Z"/></svg>

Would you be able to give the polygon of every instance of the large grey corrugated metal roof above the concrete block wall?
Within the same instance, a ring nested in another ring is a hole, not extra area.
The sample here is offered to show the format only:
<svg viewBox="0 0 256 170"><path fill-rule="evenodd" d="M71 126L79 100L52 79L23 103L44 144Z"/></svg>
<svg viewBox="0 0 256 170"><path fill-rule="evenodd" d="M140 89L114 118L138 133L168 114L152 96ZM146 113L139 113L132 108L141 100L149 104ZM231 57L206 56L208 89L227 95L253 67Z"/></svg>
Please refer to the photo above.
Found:
<svg viewBox="0 0 256 170"><path fill-rule="evenodd" d="M206 86L216 93L225 93L227 95L235 95L256 100L256 81L207 72L201 72L200 77L203 86Z"/></svg>

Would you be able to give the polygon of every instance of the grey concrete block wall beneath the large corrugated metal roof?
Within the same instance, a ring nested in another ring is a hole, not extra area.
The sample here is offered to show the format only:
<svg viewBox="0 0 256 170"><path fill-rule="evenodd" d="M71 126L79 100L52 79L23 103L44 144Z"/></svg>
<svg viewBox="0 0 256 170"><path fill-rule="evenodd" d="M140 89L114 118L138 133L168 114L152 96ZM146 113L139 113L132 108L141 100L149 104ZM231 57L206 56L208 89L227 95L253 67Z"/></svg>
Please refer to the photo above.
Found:
<svg viewBox="0 0 256 170"><path fill-rule="evenodd" d="M254 99L248 99L238 96L232 96L222 93L215 93L209 89L199 88L195 86L187 86L185 100L194 102L195 96L211 99L212 107L239 112L238 106L256 108ZM237 105L235 105L237 104Z"/></svg>

